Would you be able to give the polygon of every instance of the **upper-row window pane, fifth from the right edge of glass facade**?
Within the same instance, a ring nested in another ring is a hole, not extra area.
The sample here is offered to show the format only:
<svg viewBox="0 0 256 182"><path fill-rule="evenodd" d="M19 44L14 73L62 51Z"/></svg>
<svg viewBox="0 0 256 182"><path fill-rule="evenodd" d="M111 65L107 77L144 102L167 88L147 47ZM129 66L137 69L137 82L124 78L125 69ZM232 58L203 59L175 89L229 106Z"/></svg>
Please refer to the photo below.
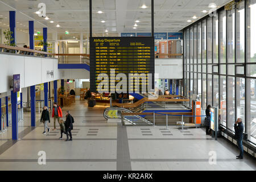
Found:
<svg viewBox="0 0 256 182"><path fill-rule="evenodd" d="M218 63L218 16L213 16L213 63Z"/></svg>

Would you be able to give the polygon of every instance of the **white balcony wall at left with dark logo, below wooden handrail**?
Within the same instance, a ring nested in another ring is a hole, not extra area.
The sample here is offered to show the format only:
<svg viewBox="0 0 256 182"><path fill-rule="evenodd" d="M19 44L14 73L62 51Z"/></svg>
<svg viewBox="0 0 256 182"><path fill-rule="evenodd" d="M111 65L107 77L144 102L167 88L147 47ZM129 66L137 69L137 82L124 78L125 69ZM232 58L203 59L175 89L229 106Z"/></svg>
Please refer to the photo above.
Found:
<svg viewBox="0 0 256 182"><path fill-rule="evenodd" d="M59 80L57 59L0 53L0 93L10 92L13 75L20 74L20 88ZM47 71L53 70L53 77Z"/></svg>

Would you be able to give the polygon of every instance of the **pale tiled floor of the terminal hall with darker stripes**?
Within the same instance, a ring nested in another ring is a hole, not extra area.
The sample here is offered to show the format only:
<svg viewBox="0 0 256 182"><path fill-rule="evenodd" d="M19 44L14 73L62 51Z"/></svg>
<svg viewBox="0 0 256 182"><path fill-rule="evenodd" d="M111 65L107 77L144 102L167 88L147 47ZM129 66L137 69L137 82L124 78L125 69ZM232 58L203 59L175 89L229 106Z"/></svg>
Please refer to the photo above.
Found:
<svg viewBox="0 0 256 182"><path fill-rule="evenodd" d="M60 131L43 135L37 114L30 127L30 113L19 123L18 142L11 141L11 127L0 134L0 170L255 170L256 162L224 139L205 135L203 129L179 130L175 126L122 126L103 118L104 106L88 108L86 102L64 107L75 119L73 141L59 140ZM57 123L56 123L57 124ZM58 125L58 124L57 124ZM53 127L53 119L49 126ZM38 164L39 151L46 165ZM216 152L216 164L209 152ZM69 166L67 168L67 166Z"/></svg>

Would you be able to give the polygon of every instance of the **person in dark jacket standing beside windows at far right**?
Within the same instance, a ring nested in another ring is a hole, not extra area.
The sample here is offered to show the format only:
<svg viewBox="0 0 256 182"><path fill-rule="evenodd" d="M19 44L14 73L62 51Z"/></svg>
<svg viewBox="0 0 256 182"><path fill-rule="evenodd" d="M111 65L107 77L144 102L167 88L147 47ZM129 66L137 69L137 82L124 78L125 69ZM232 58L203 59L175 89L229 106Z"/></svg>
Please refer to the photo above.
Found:
<svg viewBox="0 0 256 182"><path fill-rule="evenodd" d="M243 123L242 119L238 118L234 124L235 129L235 138L237 139L237 145L240 150L240 154L237 156L237 159L243 159Z"/></svg>

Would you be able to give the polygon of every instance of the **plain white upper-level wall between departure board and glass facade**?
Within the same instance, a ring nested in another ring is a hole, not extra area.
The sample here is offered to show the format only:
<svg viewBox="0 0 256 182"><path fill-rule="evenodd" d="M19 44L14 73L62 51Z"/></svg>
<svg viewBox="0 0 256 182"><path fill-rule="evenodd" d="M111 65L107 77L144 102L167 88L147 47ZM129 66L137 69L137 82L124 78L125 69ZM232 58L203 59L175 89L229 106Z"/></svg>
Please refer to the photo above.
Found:
<svg viewBox="0 0 256 182"><path fill-rule="evenodd" d="M155 59L155 73L159 79L182 79L183 59Z"/></svg>

